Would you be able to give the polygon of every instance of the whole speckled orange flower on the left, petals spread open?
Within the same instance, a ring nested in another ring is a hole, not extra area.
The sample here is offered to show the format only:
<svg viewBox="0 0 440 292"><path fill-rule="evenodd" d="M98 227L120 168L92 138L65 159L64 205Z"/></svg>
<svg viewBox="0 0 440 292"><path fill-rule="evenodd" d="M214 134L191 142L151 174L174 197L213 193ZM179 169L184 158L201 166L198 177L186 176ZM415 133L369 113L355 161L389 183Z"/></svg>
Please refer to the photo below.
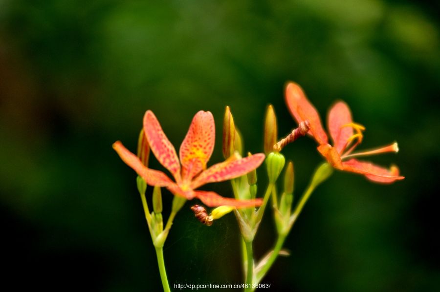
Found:
<svg viewBox="0 0 440 292"><path fill-rule="evenodd" d="M206 169L215 143L215 124L211 112L199 111L194 116L188 133L180 146L180 162L176 149L150 110L147 110L144 115L144 132L154 156L162 166L171 172L175 182L162 171L145 167L139 158L127 150L120 141L115 142L113 148L121 159L129 167L132 167L148 185L168 188L173 194L188 200L198 198L208 207L227 205L246 208L262 204L261 199L236 200L224 198L212 191L195 190L208 183L242 176L259 167L264 160L263 153L245 158L235 154L226 161Z"/></svg>

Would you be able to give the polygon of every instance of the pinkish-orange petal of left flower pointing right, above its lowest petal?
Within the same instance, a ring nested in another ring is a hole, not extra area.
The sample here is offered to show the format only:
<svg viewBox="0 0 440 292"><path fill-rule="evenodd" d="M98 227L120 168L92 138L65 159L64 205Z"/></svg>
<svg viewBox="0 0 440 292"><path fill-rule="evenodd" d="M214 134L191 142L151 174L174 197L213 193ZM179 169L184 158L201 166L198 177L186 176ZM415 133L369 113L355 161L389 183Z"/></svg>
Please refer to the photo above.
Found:
<svg viewBox="0 0 440 292"><path fill-rule="evenodd" d="M193 181L191 188L198 188L204 184L222 182L242 176L259 167L264 161L264 154L258 153L245 158L235 153L224 162L209 167Z"/></svg>

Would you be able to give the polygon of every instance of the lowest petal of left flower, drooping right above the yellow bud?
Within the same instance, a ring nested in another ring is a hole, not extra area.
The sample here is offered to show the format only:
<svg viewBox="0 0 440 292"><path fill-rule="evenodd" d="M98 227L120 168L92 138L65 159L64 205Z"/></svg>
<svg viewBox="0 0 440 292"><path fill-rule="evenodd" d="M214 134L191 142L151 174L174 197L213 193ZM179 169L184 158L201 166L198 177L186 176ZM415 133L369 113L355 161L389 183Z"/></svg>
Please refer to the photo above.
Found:
<svg viewBox="0 0 440 292"><path fill-rule="evenodd" d="M233 206L236 208L250 208L261 206L263 200L261 198L253 200L236 200L233 198L225 198L213 191L194 191L196 197L208 207Z"/></svg>

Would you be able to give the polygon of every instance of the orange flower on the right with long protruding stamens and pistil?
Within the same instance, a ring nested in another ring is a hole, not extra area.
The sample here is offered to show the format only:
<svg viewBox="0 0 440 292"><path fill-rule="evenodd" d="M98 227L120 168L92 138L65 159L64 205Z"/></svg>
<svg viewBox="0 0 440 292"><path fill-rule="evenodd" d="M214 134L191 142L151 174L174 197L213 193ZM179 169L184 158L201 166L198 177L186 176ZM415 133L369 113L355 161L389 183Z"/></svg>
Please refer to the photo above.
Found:
<svg viewBox="0 0 440 292"><path fill-rule="evenodd" d="M327 134L322 127L316 108L310 104L298 84L293 82L287 84L286 104L298 124L305 120L310 122L308 134L318 142L318 151L334 168L363 174L369 180L377 183L392 183L395 180L404 178L399 176L399 169L396 166L387 169L353 158L397 152L398 147L397 143L393 143L373 150L352 153L354 148L362 142L362 131L365 130L365 127L352 122L352 113L346 103L339 101L329 111L328 126L333 146L328 143ZM354 134L353 130L355 131Z"/></svg>

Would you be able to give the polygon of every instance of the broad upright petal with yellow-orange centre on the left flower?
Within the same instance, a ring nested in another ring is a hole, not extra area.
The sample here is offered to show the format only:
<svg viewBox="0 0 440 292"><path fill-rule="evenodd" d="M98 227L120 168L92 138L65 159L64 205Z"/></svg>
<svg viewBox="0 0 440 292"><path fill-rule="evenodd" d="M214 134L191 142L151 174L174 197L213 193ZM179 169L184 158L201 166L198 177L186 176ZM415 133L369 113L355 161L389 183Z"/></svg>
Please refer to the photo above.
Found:
<svg viewBox="0 0 440 292"><path fill-rule="evenodd" d="M202 169L206 169L214 149L215 131L211 112L201 110L194 116L179 151L184 179L191 180Z"/></svg>

